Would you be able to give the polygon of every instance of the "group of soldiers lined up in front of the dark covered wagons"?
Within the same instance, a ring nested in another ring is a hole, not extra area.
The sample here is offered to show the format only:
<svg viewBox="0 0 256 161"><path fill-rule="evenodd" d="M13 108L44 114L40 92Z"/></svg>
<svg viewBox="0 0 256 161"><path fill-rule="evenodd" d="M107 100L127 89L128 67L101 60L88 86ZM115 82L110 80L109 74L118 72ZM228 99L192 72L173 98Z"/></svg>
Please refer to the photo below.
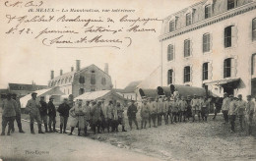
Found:
<svg viewBox="0 0 256 161"><path fill-rule="evenodd" d="M152 97L144 97L142 104L139 105L141 109L141 129L146 129L149 122L149 128L157 128L161 126L162 120L165 125L168 123L186 122L192 117L192 122L196 120L197 114L198 120L207 121L209 109L212 104L212 98L203 96L197 96L196 94L191 99L191 96L187 97L176 95L174 97L158 96L154 100ZM138 122L136 119L136 113L138 109L134 102L128 107L127 116L129 120L130 129L132 130L132 122L135 123L137 129Z"/></svg>

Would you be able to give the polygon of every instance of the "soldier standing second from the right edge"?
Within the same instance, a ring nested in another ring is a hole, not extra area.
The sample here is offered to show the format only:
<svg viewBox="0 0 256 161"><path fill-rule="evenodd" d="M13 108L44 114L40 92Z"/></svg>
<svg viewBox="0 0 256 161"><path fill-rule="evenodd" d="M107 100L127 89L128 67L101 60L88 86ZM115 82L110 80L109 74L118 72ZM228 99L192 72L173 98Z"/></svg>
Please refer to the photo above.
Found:
<svg viewBox="0 0 256 161"><path fill-rule="evenodd" d="M246 108L246 102L242 100L242 94L238 94L238 100L237 100L237 116L240 123L240 129L243 131L243 127L245 126L245 120L244 120L244 111Z"/></svg>

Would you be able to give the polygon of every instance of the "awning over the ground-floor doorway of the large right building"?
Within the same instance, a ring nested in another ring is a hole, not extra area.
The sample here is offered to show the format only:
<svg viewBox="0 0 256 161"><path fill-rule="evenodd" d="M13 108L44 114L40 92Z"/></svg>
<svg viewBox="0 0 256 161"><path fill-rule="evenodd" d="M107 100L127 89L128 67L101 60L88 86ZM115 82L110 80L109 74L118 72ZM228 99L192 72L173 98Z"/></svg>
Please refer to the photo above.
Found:
<svg viewBox="0 0 256 161"><path fill-rule="evenodd" d="M220 85L220 86L231 86L236 87L240 82L240 78L238 79L224 79L224 80L214 80L210 82L206 82L206 85Z"/></svg>

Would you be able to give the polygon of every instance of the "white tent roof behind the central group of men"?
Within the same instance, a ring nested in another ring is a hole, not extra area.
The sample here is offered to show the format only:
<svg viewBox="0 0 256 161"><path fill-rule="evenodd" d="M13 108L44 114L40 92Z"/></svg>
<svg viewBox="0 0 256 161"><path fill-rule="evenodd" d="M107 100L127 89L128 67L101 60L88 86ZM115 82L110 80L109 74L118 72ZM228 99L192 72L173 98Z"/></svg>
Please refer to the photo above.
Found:
<svg viewBox="0 0 256 161"><path fill-rule="evenodd" d="M96 100L96 99L102 99L110 94L113 94L117 96L120 99L125 100L124 97L120 96L114 91L111 90L98 90L98 91L91 91L91 92L85 92L84 94L78 96L75 98L76 99L83 99L83 100Z"/></svg>

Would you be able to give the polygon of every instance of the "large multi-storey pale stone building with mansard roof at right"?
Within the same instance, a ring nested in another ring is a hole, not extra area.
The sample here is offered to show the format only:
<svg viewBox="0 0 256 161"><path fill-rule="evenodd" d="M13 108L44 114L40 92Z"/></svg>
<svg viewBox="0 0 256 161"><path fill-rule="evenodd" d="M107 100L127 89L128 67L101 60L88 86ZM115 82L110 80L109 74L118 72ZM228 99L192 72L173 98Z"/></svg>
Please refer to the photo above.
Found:
<svg viewBox="0 0 256 161"><path fill-rule="evenodd" d="M256 1L203 0L164 19L162 85L256 94Z"/></svg>

